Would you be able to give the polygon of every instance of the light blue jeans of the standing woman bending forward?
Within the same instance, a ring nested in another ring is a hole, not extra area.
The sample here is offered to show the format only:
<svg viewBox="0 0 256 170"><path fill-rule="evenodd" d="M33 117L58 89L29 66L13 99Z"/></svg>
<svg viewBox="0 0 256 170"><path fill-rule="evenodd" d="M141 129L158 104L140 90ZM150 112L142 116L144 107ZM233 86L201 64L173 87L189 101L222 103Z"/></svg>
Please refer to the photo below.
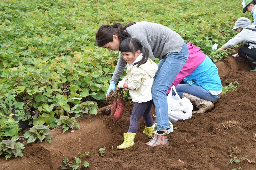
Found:
<svg viewBox="0 0 256 170"><path fill-rule="evenodd" d="M166 92L188 59L188 47L184 43L179 53L172 52L160 60L151 92L156 108L157 130L170 128Z"/></svg>

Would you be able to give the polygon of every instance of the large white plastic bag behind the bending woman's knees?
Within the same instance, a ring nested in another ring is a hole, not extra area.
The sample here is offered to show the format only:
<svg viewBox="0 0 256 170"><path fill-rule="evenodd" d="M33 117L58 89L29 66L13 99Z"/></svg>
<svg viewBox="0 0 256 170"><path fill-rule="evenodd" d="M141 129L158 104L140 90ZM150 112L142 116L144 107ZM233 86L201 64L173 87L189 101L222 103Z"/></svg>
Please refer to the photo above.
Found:
<svg viewBox="0 0 256 170"><path fill-rule="evenodd" d="M175 96L172 95L172 90L175 92ZM185 120L192 116L192 103L186 97L180 99L174 85L167 96L167 103L169 120L171 122L177 122L179 119Z"/></svg>

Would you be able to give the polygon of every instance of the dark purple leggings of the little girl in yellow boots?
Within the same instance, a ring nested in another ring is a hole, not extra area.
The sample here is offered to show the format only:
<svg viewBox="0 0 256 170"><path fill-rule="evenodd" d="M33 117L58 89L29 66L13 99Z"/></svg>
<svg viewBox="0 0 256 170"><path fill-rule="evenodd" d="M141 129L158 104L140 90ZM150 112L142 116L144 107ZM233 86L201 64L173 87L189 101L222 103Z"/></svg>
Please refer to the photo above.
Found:
<svg viewBox="0 0 256 170"><path fill-rule="evenodd" d="M128 129L128 132L132 132L132 133L137 132L141 116L143 116L145 125L147 127L153 126L153 118L150 114L152 105L153 105L153 100L149 100L143 103L135 102L132 109L132 114L130 117L130 126Z"/></svg>

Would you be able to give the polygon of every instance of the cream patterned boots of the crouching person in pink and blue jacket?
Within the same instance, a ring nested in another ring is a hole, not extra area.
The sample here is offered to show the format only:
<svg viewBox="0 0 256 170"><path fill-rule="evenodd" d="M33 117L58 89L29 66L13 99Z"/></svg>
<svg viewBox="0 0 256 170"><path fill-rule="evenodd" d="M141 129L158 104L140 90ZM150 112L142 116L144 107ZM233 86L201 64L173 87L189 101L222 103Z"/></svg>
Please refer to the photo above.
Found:
<svg viewBox="0 0 256 170"><path fill-rule="evenodd" d="M214 104L211 101L201 99L197 96L194 96L192 94L183 93L182 98L186 97L188 98L192 104L196 105L198 110L195 110L192 112L192 114L195 113L205 113L207 110L211 110L214 107Z"/></svg>

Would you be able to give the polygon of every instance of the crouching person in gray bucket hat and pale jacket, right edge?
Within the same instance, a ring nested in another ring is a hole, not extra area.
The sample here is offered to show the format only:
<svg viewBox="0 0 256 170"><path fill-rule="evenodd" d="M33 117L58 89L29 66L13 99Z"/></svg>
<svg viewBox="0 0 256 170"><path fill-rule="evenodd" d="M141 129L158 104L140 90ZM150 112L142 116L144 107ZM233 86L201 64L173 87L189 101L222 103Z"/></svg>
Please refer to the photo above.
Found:
<svg viewBox="0 0 256 170"><path fill-rule="evenodd" d="M240 56L244 59L251 58L256 61L256 26L251 25L250 19L240 17L237 19L232 30L236 30L238 34L219 49L225 50L227 48L233 48L234 45L244 42L243 47L238 49L238 54L233 56Z"/></svg>

